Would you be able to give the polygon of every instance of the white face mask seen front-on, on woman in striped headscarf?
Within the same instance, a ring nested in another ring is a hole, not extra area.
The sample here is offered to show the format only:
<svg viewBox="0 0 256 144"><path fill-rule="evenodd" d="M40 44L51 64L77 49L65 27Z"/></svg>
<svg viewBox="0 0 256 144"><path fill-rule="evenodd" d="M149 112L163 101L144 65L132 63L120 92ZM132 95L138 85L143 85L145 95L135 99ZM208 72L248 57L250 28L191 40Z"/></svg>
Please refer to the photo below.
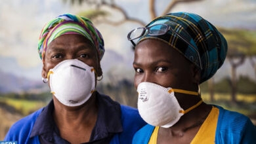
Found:
<svg viewBox="0 0 256 144"><path fill-rule="evenodd" d="M63 105L82 105L95 91L94 71L93 67L77 59L58 63L47 75L51 93Z"/></svg>

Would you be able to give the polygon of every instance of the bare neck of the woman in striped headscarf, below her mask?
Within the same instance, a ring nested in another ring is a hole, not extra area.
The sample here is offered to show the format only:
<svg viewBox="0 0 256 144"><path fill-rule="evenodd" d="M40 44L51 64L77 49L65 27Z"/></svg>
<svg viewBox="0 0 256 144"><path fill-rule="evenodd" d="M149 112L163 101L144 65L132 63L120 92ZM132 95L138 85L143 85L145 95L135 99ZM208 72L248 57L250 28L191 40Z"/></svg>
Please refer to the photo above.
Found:
<svg viewBox="0 0 256 144"><path fill-rule="evenodd" d="M98 109L96 106L96 94L83 105L68 107L63 105L53 96L53 117L59 129L84 129L95 126Z"/></svg>

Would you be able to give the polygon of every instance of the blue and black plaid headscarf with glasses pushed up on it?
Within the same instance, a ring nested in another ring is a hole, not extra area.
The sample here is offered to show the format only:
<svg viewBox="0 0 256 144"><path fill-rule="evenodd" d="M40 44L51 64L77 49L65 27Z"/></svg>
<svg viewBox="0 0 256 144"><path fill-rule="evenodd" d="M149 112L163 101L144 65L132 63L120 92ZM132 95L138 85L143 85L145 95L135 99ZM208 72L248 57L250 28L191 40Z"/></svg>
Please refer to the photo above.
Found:
<svg viewBox="0 0 256 144"><path fill-rule="evenodd" d="M198 50L202 63L200 83L213 77L217 69L223 65L227 52L226 39L215 26L204 20L201 16L188 12L169 13L155 18L146 27L155 24L167 24ZM171 30L167 31L165 35L157 36L150 36L148 33L145 33L138 43L144 39L159 39L171 45L190 62L200 67L198 54L194 48L185 43L181 37Z"/></svg>

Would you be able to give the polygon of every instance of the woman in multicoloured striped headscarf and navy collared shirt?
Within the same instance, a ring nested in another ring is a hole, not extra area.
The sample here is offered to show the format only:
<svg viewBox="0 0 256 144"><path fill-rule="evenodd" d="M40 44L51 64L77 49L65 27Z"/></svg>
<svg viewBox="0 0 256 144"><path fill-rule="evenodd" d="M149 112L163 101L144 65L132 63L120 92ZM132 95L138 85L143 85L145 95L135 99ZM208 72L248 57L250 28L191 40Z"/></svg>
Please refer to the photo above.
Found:
<svg viewBox="0 0 256 144"><path fill-rule="evenodd" d="M90 20L64 14L39 38L43 82L53 100L16 122L5 141L18 143L131 143L144 126L136 109L96 92L104 42Z"/></svg>

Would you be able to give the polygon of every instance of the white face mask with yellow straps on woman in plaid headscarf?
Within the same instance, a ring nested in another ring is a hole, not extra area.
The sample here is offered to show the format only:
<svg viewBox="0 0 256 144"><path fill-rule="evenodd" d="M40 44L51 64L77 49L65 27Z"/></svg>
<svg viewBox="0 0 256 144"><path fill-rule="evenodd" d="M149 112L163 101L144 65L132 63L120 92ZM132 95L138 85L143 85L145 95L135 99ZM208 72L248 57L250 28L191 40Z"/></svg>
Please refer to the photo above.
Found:
<svg viewBox="0 0 256 144"><path fill-rule="evenodd" d="M184 111L177 101L174 92L198 96L198 92L165 88L151 82L141 82L137 88L139 93L138 109L140 116L152 126L169 128L179 121L182 115L198 107L202 103Z"/></svg>

